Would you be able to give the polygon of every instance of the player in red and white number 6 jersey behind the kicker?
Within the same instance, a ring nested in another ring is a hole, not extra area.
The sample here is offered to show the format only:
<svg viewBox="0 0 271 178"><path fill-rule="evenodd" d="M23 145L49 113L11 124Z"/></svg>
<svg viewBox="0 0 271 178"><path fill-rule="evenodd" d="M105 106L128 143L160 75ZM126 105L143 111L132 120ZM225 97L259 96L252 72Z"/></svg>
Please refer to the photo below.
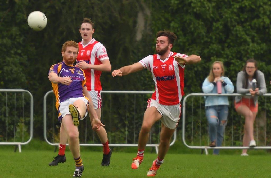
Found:
<svg viewBox="0 0 271 178"><path fill-rule="evenodd" d="M82 41L78 43L79 53L77 56L76 66L85 71L86 87L88 89L89 95L92 98L95 111L99 119L101 119L102 86L100 76L102 71L111 71L111 64L104 45L92 38L95 29L94 23L90 19L83 19L79 32L81 34ZM92 119L93 117L90 118L91 124ZM103 145L104 155L101 166L109 166L112 150L108 145L107 132L104 127L98 131L95 131Z"/></svg>

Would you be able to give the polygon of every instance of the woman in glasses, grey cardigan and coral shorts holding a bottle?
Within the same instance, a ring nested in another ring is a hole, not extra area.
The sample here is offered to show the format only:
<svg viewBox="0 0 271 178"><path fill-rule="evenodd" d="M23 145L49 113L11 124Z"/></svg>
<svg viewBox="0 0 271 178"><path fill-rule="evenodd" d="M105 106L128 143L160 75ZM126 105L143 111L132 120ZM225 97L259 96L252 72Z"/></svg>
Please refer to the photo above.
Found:
<svg viewBox="0 0 271 178"><path fill-rule="evenodd" d="M253 87L253 82L256 87ZM237 75L236 90L240 94L251 94L236 96L235 109L245 117L243 146L254 147L256 142L253 137L253 123L258 112L258 97L266 93L264 74L257 70L256 60L246 61L243 71ZM243 149L241 156L248 156L247 149Z"/></svg>

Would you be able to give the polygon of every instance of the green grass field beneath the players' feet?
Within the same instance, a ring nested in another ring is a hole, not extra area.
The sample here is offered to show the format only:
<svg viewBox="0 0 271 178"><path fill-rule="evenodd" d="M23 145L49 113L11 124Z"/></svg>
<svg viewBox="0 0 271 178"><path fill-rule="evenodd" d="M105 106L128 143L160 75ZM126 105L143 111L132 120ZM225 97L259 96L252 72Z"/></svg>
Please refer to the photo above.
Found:
<svg viewBox="0 0 271 178"><path fill-rule="evenodd" d="M19 153L14 152L14 147L8 147L0 147L0 177L72 177L75 163L69 150L66 151L66 163L50 167L48 163L57 155L53 149L27 149L26 146ZM197 152L167 154L156 177L270 177L270 155L266 152L247 157L241 157L239 153L217 156ZM135 155L136 152L113 151L110 166L101 167L102 152L82 148L83 177L146 177L157 155L146 152L140 168L133 170L130 165Z"/></svg>

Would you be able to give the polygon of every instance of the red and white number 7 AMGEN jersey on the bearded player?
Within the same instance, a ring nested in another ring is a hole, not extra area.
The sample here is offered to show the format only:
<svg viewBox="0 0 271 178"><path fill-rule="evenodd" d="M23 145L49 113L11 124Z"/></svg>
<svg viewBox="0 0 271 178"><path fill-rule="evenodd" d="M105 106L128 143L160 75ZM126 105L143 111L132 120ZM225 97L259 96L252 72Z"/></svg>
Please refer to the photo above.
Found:
<svg viewBox="0 0 271 178"><path fill-rule="evenodd" d="M176 54L170 51L165 60L161 60L159 54L153 54L139 61L153 76L155 91L151 98L163 105L179 104L184 95L185 66L173 58ZM178 55L188 57L186 54Z"/></svg>

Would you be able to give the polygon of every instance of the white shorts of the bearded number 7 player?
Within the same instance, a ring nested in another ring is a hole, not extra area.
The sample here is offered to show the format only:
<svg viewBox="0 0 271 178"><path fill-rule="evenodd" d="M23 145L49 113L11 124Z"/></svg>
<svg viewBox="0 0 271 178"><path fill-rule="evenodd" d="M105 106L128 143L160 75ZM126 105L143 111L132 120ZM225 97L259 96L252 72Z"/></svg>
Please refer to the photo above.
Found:
<svg viewBox="0 0 271 178"><path fill-rule="evenodd" d="M181 116L181 105L162 105L159 104L156 100L149 99L148 106L156 107L158 112L162 115L162 123L169 129L175 129L178 125L180 116Z"/></svg>

